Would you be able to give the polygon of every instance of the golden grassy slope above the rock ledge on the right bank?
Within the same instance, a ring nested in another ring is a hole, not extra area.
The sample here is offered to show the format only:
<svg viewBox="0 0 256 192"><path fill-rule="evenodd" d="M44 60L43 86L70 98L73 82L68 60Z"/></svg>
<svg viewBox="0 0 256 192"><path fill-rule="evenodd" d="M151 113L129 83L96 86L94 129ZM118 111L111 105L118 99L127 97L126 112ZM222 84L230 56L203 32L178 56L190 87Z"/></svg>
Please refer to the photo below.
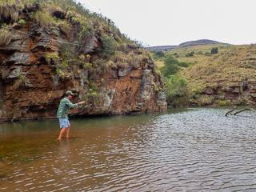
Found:
<svg viewBox="0 0 256 192"><path fill-rule="evenodd" d="M210 50L216 46L218 46L218 54L205 54L210 53ZM195 53L194 56L186 57L186 54L192 51ZM200 51L202 54L198 54ZM166 54L174 53L178 54L179 58L176 59L180 62L195 63L193 66L183 68L177 74L179 78L186 78L190 86L196 84L204 87L218 80L255 78L256 61L249 60L256 58L256 45L254 44L189 46L166 51ZM158 60L155 64L161 67L163 61Z"/></svg>

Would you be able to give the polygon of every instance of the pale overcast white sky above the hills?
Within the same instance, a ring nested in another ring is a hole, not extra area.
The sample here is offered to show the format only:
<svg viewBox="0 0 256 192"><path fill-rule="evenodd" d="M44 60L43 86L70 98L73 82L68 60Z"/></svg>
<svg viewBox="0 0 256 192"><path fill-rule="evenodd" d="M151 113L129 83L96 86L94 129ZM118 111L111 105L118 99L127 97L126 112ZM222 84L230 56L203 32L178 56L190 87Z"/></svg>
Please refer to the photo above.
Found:
<svg viewBox="0 0 256 192"><path fill-rule="evenodd" d="M143 46L256 43L256 0L77 0Z"/></svg>

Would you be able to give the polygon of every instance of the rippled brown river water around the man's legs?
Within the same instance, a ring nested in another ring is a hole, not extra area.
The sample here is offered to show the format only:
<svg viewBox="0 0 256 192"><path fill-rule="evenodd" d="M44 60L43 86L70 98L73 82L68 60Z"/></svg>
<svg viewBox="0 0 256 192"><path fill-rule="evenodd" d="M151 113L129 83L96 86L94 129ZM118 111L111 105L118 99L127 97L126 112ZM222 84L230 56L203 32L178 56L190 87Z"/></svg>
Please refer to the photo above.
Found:
<svg viewBox="0 0 256 192"><path fill-rule="evenodd" d="M57 119L2 123L0 191L256 191L256 112L232 108L70 119L63 141Z"/></svg>

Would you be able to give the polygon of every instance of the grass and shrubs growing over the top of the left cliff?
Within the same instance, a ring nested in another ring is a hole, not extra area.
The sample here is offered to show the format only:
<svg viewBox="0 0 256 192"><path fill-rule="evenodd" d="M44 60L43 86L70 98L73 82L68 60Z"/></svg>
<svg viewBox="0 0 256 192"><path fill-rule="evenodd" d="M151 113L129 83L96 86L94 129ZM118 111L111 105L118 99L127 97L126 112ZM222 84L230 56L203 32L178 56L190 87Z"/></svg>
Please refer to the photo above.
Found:
<svg viewBox="0 0 256 192"><path fill-rule="evenodd" d="M104 82L102 76L109 70L136 69L143 59L151 59L142 42L131 40L109 18L87 10L74 0L1 1L0 46L8 45L22 25L39 26L53 38L64 34L68 39L60 51L45 55L46 63L56 72L51 77L55 90L66 79L75 87L75 80L81 79L86 70L87 94L98 94L98 87ZM86 46L87 40L94 37L99 47Z"/></svg>

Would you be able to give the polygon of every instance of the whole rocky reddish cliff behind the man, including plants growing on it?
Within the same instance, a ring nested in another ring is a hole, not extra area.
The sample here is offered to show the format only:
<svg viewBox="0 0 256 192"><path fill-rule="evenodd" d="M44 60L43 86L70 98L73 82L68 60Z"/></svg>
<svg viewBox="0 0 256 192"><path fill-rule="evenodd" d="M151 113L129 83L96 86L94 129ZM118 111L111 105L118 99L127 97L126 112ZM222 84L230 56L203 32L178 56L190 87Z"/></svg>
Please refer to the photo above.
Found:
<svg viewBox="0 0 256 192"><path fill-rule="evenodd" d="M40 23L34 18L42 6L14 7L16 19L1 15L0 35L10 39L0 45L0 121L56 118L66 90L76 94L71 102L86 101L74 116L166 110L160 74L146 50L65 10L51 11L57 24Z"/></svg>

